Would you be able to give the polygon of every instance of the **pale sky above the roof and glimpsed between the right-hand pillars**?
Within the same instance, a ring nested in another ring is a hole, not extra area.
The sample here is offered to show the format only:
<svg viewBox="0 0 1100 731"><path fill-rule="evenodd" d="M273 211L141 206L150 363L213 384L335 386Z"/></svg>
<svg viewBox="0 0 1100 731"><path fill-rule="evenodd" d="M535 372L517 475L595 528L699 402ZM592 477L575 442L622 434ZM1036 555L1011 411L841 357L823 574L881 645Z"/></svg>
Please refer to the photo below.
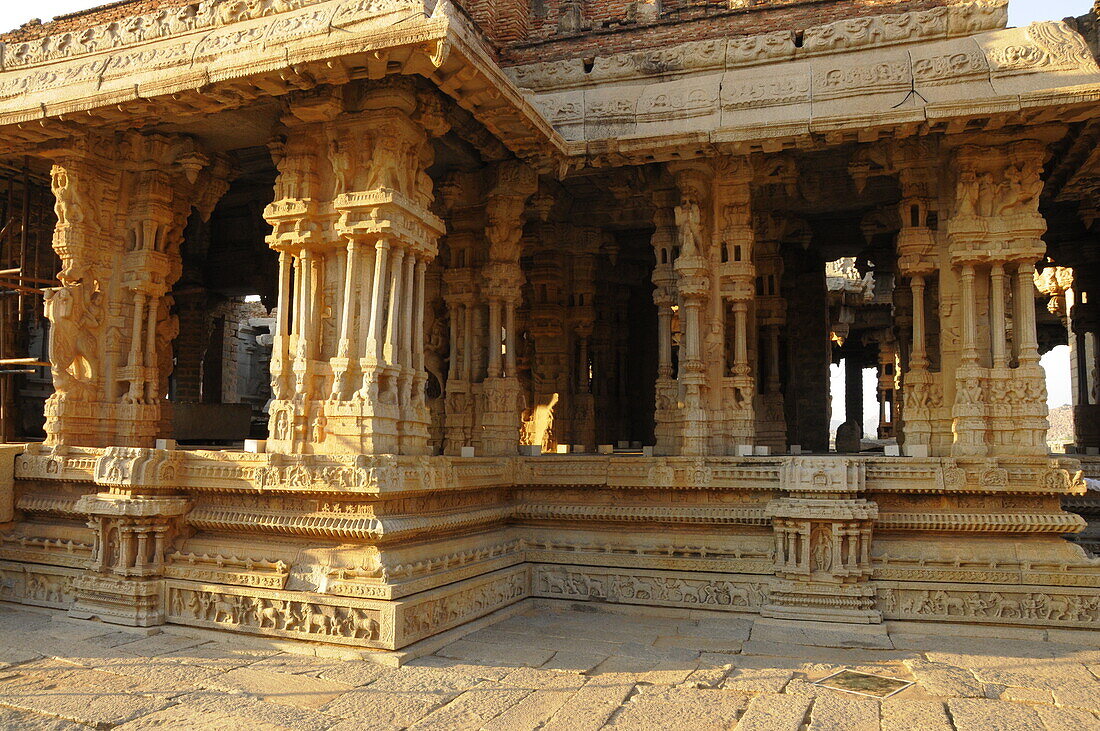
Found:
<svg viewBox="0 0 1100 731"><path fill-rule="evenodd" d="M55 15L101 4L105 4L101 0L91 2L89 0L35 0L35 2L28 4L7 0L0 4L0 30L18 27L31 18L38 18L45 22ZM1091 4L1091 0L1011 0L1009 3L1009 24L1026 25L1037 20L1060 20L1069 15L1082 15L1088 12ZM1067 347L1056 347L1043 357L1043 366L1047 373L1048 401L1052 407L1069 403L1068 351ZM844 376L838 368L834 368L831 375L833 376L833 394L835 396L833 417L837 419L844 413ZM867 407L864 423L871 432L872 425L878 424L879 418L875 401L873 378L868 377L864 381L867 387L867 392L864 396L864 403Z"/></svg>

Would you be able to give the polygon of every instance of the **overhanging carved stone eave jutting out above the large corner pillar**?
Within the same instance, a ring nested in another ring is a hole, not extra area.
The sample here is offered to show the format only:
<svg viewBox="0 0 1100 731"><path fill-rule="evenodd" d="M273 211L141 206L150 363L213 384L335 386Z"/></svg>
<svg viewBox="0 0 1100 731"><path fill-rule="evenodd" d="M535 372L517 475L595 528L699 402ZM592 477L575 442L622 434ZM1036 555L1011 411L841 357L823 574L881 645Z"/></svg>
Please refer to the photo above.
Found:
<svg viewBox="0 0 1100 731"><path fill-rule="evenodd" d="M153 44L173 41L162 38ZM381 68L364 62L366 73L353 73L353 64L369 55L382 59ZM109 54L103 56L101 60L108 63ZM386 62L394 57L396 69ZM66 64L57 62L31 70L62 74ZM23 73L0 73L0 85L4 77L10 80L11 75ZM95 89L74 89L72 93L66 93L64 86L21 93L0 104L0 152L23 152L92 129L145 126L160 115L201 115L242 108L254 99L219 107L219 92L240 93L242 86L255 87L256 98L277 97L310 84L341 84L395 73L419 75L433 82L518 157L548 170L563 164L564 139L497 67L469 22L442 2L418 22L366 29L336 40L297 40L266 57L249 54L246 58L218 58L200 68L138 71L123 76L122 82L114 79L108 89L99 88L100 81ZM204 102L210 109L204 110Z"/></svg>

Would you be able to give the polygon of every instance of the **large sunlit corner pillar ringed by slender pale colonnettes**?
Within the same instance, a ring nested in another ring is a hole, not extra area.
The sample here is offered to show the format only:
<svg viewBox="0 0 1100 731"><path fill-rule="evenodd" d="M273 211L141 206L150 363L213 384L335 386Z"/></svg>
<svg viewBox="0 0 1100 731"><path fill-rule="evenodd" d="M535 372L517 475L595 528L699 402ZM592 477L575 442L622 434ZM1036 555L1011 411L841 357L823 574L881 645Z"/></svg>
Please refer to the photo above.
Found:
<svg viewBox="0 0 1100 731"><path fill-rule="evenodd" d="M429 102L391 85L289 104L264 212L280 254L279 311L294 313L289 341L276 335L271 452L427 452L418 318L443 223L428 210L426 170L429 133L446 131Z"/></svg>

